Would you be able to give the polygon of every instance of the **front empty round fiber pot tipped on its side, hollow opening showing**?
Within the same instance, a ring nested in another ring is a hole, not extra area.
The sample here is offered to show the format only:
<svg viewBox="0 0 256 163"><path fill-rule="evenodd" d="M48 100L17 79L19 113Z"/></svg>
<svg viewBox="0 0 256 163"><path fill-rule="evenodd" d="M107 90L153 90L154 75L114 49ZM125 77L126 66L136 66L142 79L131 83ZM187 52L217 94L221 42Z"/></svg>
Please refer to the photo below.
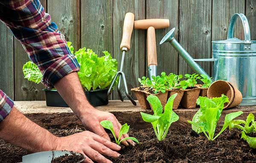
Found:
<svg viewBox="0 0 256 163"><path fill-rule="evenodd" d="M226 95L230 101L229 103L224 104L224 109L226 109L232 103L235 94L234 89L229 82L217 80L210 85L207 91L208 98L221 97L222 94Z"/></svg>

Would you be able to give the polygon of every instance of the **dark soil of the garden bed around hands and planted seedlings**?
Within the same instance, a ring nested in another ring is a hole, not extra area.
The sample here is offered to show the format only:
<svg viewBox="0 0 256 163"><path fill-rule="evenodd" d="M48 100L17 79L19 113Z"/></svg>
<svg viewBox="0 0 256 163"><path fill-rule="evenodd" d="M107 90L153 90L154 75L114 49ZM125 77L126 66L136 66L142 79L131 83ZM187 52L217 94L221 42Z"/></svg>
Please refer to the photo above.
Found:
<svg viewBox="0 0 256 163"><path fill-rule="evenodd" d="M55 135L66 136L82 129L50 129ZM208 141L190 129L170 129L166 139L158 142L153 129L129 131L140 141L134 147L122 146L113 163L255 163L256 150L241 140L237 129L226 129L215 141ZM17 163L28 152L0 141L0 163Z"/></svg>

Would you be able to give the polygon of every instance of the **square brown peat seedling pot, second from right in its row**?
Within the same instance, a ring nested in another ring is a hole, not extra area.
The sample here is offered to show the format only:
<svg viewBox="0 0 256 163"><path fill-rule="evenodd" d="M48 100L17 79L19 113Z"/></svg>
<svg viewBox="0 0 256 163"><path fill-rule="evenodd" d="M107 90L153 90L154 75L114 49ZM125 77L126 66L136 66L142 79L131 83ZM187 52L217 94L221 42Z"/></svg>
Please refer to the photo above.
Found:
<svg viewBox="0 0 256 163"><path fill-rule="evenodd" d="M196 100L200 94L201 88L196 87L193 89L183 90L184 94L180 101L181 106L186 109L193 109L196 107Z"/></svg>

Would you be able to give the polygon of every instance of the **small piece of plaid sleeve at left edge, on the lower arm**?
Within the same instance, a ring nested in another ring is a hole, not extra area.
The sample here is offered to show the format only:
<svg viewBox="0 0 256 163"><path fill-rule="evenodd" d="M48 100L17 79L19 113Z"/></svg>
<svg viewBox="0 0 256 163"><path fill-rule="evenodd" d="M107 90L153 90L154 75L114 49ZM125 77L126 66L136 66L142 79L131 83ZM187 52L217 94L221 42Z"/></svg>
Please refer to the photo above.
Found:
<svg viewBox="0 0 256 163"><path fill-rule="evenodd" d="M9 115L13 105L13 101L0 90L0 122Z"/></svg>

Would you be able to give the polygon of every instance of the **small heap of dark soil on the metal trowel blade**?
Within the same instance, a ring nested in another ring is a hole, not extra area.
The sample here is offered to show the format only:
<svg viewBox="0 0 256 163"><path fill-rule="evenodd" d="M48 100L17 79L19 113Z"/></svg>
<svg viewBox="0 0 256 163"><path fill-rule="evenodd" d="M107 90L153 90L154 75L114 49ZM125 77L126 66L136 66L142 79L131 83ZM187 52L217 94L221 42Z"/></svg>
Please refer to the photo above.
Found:
<svg viewBox="0 0 256 163"><path fill-rule="evenodd" d="M76 155L76 153L71 152L71 155L64 155L57 157L51 161L51 163L79 163L81 160L84 160L84 156L82 154Z"/></svg>

